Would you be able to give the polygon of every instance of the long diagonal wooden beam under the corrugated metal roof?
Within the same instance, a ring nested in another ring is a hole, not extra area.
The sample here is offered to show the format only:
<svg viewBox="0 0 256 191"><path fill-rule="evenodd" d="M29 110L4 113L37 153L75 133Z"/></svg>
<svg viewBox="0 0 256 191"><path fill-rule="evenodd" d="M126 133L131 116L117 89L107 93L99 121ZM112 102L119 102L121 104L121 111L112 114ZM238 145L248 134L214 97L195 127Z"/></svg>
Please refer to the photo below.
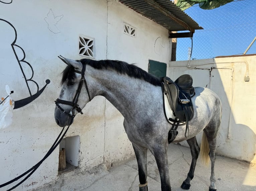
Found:
<svg viewBox="0 0 256 191"><path fill-rule="evenodd" d="M149 5L151 5L152 7L154 7L155 9L157 9L158 11L160 11L161 13L163 13L164 15L168 16L169 18L177 22L178 24L180 24L181 26L185 27L188 31L192 33L195 32L195 30L190 28L184 21L175 17L173 14L171 14L169 11L164 9L161 5L159 5L154 0L144 0L144 1L147 2Z"/></svg>

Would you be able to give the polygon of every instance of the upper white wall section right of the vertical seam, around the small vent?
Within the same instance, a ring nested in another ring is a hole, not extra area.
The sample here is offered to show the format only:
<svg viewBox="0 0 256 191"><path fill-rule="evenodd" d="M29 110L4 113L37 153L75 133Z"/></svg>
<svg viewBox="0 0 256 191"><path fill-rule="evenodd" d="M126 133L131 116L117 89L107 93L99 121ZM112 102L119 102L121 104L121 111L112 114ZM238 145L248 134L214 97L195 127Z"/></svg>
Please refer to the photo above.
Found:
<svg viewBox="0 0 256 191"><path fill-rule="evenodd" d="M114 0L108 2L108 59L137 63L148 71L148 60L170 60L168 30ZM136 37L123 33L123 22L136 28Z"/></svg>

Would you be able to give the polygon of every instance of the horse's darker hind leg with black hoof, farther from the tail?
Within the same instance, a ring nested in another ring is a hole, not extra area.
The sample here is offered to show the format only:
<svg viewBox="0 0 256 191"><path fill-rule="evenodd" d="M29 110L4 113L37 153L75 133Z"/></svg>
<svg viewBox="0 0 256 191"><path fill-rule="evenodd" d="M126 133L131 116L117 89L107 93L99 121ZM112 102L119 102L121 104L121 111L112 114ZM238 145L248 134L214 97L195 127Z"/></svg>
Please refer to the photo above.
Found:
<svg viewBox="0 0 256 191"><path fill-rule="evenodd" d="M195 167L196 167L196 164L197 164L197 159L198 159L198 155L199 155L199 151L200 151L200 148L199 148L198 143L197 143L196 136L188 139L187 143L190 147L192 161L191 161L189 172L187 174L187 178L183 181L182 185L180 186L184 190L189 189L190 181L194 178Z"/></svg>

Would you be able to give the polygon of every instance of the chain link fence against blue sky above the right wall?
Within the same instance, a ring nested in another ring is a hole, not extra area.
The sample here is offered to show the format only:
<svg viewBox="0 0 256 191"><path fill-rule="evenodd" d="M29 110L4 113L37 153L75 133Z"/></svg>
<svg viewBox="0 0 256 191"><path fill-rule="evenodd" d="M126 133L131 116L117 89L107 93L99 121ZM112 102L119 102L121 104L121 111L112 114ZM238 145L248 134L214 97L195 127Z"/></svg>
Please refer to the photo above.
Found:
<svg viewBox="0 0 256 191"><path fill-rule="evenodd" d="M194 5L184 11L202 26L190 38L178 38L176 61L241 55L256 37L256 0L234 0L212 10ZM184 31L183 31L184 32ZM256 54L256 42L246 54Z"/></svg>

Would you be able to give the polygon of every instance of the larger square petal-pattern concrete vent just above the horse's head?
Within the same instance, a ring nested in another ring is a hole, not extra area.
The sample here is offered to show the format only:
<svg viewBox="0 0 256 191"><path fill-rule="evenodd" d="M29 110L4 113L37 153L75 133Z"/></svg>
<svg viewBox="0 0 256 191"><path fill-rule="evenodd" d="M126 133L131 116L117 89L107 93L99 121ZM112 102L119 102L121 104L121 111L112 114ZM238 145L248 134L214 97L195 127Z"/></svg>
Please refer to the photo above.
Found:
<svg viewBox="0 0 256 191"><path fill-rule="evenodd" d="M79 36L79 55L94 58L94 38Z"/></svg>

